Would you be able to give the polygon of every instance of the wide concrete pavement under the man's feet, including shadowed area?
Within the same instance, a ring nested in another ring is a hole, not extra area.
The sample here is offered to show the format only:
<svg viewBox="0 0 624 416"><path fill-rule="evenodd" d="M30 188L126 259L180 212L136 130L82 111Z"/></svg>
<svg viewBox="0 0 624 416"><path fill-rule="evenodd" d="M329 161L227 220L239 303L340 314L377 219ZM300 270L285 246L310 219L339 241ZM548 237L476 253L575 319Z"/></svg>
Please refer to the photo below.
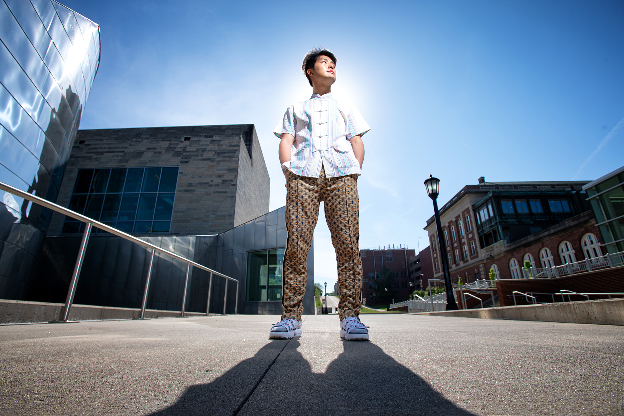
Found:
<svg viewBox="0 0 624 416"><path fill-rule="evenodd" d="M534 415L624 412L624 327L335 315L0 327L2 415Z"/></svg>

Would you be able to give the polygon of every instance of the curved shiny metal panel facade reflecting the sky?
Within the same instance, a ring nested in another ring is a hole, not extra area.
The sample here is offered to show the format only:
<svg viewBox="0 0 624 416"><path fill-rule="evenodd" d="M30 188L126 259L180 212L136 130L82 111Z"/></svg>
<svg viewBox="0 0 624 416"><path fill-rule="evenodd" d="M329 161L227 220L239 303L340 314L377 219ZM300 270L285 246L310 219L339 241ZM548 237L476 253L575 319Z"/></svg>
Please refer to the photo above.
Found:
<svg viewBox="0 0 624 416"><path fill-rule="evenodd" d="M51 0L0 1L0 181L56 201L99 60L89 19ZM51 212L0 196L0 297L24 299Z"/></svg>

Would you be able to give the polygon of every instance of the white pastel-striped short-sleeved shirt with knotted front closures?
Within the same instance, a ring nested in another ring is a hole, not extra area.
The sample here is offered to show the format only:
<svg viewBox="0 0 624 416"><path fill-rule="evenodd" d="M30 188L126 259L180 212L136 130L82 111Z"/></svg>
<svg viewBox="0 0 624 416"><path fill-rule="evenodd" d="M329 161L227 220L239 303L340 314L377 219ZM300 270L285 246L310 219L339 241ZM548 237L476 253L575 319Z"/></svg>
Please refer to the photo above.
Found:
<svg viewBox="0 0 624 416"><path fill-rule="evenodd" d="M318 177L323 166L326 177L338 177L360 174L349 140L370 129L356 107L329 93L312 94L309 100L288 107L273 133L280 138L285 133L295 136L289 168L295 175Z"/></svg>

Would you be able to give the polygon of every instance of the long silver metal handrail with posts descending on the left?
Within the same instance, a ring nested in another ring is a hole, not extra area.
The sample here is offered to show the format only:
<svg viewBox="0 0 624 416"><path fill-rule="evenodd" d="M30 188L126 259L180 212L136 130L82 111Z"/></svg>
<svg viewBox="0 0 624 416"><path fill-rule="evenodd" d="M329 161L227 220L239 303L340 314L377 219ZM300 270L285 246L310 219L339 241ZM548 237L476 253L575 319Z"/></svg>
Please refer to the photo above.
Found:
<svg viewBox="0 0 624 416"><path fill-rule="evenodd" d="M173 252L170 252L169 250L165 250L161 247L158 247L157 245L154 244L150 244L147 241L141 240L137 237L134 237L134 235L130 235L130 234L126 234L123 231L120 231L116 228L111 227L110 225L106 225L106 224L102 224L99 221L96 221L94 219L91 219L89 217L85 217L85 215L82 214L78 214L77 212L72 211L71 209L67 209L65 207L61 207L60 205L54 204L54 202L50 202L47 201L46 199L40 198L38 196L34 196L32 194L29 194L28 192L24 192L21 189L17 189L16 187L12 187L10 185L5 184L4 182L0 182L0 190L4 191L4 192L9 192L9 194L13 194L15 196L19 196L23 199L26 199L27 201L31 201L34 202L37 205L40 205L42 207L46 207L48 209L51 209L53 211L59 212L61 214L67 215L68 217L72 217L73 219L77 219L79 221L85 222L87 224L87 226L84 229L84 232L82 233L82 241L80 242L80 249L78 251L78 258L76 259L76 265L74 266L74 272L72 274L72 280L69 283L69 290L67 290L67 298L65 301L65 306L63 309L63 312L61 314L61 319L58 321L51 321L51 322L68 322L67 318L69 317L69 310L72 307L72 303L74 302L74 295L76 294L76 287L77 287L77 283L78 283L78 277L80 275L80 270L82 269L82 264L84 262L84 255L87 252L87 243L89 242L89 236L91 234L91 229L92 227L97 227L101 230L110 232L110 234L114 234L117 235L117 237L122 237L122 239L126 239L129 241L132 241L136 244L142 245L143 247L147 248L147 249L152 249L152 256L150 259L150 265L149 268L147 269L147 279L145 279L145 290L144 290L144 294L143 294L143 301L141 304L141 315L139 317L139 319L145 319L145 306L147 304L147 293L148 293L148 289L149 289L149 284L150 284L150 277L152 275L152 266L154 265L154 254L155 252L159 252L162 254L166 254L170 257L173 257L174 259L178 259L178 260L182 260L183 262L187 263L187 274L186 274L186 278L185 278L185 284L184 284L184 297L182 298L182 312L181 315L182 317L184 316L184 308L186 306L186 297L187 297L187 289L188 289L188 274L190 272L190 266L194 266L197 267L198 269L202 269L205 270L207 272L210 272L210 281L208 283L208 301L207 301L207 305L206 305L206 315L210 316L210 295L212 295L212 275L216 274L220 277L223 277L224 279L227 280L232 280L233 282L236 282L236 302L234 305L234 313L238 313L238 285L239 282L236 279L233 279L230 276L227 276L225 274L219 273L215 270L209 269L208 267L201 265L199 263L193 262L193 260L189 260L186 257L183 257L182 255L179 254L175 254ZM225 315L225 307L227 305L227 294L228 294L228 285L225 285L225 294L223 295L223 315Z"/></svg>

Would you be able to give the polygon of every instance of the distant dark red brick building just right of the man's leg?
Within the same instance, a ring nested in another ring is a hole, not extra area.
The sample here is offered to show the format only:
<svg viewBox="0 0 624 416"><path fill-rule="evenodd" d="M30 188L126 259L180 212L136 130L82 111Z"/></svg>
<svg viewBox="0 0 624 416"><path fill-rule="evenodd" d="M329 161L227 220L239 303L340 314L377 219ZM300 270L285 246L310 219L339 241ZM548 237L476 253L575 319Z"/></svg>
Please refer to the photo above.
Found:
<svg viewBox="0 0 624 416"><path fill-rule="evenodd" d="M392 289L395 292L394 300L399 302L409 299L411 294L409 282L412 282L413 287L414 279L408 279L408 259L414 257L415 254L416 250L407 249L407 247L359 250L363 269L362 292L363 297L366 298L366 304L374 305L385 302L383 295L380 296L375 287L375 277L384 267L388 268L394 277L394 282L392 282Z"/></svg>

